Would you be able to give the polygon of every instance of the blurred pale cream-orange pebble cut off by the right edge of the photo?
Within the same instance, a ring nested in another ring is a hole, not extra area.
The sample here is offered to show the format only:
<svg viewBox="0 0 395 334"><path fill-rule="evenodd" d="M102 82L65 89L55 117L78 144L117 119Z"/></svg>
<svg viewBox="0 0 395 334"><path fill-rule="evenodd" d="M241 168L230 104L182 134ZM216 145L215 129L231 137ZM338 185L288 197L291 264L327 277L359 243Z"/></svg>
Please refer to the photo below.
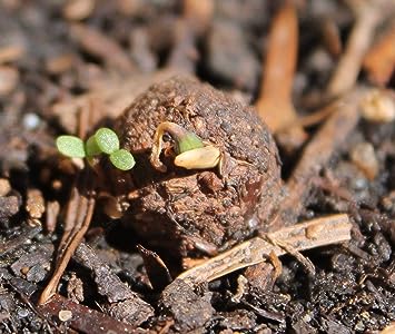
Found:
<svg viewBox="0 0 395 334"><path fill-rule="evenodd" d="M395 119L395 96L388 90L369 91L361 102L365 119L376 122L389 122Z"/></svg>

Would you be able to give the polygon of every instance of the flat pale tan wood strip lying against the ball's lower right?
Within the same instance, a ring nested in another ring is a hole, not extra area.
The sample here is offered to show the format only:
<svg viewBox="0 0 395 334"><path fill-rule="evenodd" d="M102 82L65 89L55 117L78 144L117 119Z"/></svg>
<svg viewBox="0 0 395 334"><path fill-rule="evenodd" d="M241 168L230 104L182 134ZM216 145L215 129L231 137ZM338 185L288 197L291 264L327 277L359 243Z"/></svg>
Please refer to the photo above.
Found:
<svg viewBox="0 0 395 334"><path fill-rule="evenodd" d="M310 222L282 228L268 234L270 239L286 243L297 250L310 249L349 240L352 224L347 215L334 215ZM330 233L328 233L330 230ZM184 272L177 278L190 286L210 282L240 268L266 261L270 253L276 256L286 254L286 250L263 237L255 237L201 265Z"/></svg>

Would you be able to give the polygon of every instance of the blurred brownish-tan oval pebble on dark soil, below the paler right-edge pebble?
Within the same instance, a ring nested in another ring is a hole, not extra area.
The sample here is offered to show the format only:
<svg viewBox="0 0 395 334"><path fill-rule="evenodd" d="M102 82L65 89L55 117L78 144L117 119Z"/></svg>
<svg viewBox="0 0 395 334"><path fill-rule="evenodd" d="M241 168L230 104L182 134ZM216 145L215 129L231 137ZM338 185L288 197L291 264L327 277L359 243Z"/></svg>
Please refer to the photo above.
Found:
<svg viewBox="0 0 395 334"><path fill-rule="evenodd" d="M377 176L379 166L372 144L357 144L352 149L350 158L368 179L374 179Z"/></svg>

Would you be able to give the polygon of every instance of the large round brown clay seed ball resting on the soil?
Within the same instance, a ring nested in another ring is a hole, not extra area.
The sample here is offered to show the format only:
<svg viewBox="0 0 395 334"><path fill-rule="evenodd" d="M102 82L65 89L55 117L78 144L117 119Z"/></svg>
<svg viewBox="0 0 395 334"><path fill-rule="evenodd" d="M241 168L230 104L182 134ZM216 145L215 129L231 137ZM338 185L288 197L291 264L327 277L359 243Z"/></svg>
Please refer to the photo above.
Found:
<svg viewBox="0 0 395 334"><path fill-rule="evenodd" d="M220 168L186 170L168 159L166 173L156 170L149 155L164 121L218 147ZM213 253L268 228L282 197L279 158L251 108L194 78L176 77L138 97L117 120L116 131L137 159L125 220L155 247L182 256L197 249Z"/></svg>

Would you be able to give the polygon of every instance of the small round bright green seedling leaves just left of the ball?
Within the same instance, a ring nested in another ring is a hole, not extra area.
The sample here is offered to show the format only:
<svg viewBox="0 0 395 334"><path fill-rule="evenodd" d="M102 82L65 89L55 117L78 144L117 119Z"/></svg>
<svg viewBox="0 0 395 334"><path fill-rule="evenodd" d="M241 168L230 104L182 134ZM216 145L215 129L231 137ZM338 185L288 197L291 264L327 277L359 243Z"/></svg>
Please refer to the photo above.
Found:
<svg viewBox="0 0 395 334"><path fill-rule="evenodd" d="M129 170L135 166L134 156L126 149L119 149L119 139L115 131L100 128L86 144L75 136L59 136L56 140L58 150L70 158L87 158L95 165L100 154L109 156L111 164L120 170Z"/></svg>

